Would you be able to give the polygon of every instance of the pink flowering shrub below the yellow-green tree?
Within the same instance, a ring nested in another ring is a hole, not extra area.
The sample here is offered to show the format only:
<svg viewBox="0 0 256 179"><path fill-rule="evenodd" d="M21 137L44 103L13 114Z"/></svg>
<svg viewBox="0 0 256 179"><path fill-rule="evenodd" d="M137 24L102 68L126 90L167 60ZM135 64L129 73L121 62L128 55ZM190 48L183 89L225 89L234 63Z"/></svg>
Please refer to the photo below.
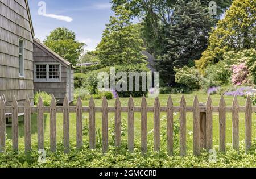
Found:
<svg viewBox="0 0 256 179"><path fill-rule="evenodd" d="M245 63L233 65L232 70L233 74L231 81L233 85L240 86L249 83L249 69L247 68Z"/></svg>

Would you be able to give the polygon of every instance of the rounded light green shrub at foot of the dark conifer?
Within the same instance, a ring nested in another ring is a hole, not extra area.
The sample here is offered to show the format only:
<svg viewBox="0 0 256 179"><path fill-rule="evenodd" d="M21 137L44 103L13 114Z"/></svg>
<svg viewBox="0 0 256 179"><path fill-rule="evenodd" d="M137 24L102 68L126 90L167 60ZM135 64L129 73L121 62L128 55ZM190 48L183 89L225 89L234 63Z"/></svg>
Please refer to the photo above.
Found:
<svg viewBox="0 0 256 179"><path fill-rule="evenodd" d="M199 81L201 76L197 69L194 67L188 68L188 66L184 66L180 69L174 68L174 70L176 72L175 82L186 86L190 90L200 89Z"/></svg>

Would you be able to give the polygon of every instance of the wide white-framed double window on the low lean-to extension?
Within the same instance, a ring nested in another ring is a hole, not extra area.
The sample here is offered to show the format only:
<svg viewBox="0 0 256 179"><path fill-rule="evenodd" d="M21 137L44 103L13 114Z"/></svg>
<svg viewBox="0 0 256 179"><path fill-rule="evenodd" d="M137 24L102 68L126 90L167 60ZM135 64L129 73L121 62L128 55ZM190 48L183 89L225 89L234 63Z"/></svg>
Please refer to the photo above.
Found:
<svg viewBox="0 0 256 179"><path fill-rule="evenodd" d="M35 81L59 82L60 64L35 64Z"/></svg>

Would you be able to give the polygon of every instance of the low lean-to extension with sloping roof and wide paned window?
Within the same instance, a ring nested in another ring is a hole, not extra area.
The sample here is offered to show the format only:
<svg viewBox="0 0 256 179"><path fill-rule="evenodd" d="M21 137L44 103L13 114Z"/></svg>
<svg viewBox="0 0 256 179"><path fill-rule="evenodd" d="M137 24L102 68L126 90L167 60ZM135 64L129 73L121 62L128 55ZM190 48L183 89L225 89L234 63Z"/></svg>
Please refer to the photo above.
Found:
<svg viewBox="0 0 256 179"><path fill-rule="evenodd" d="M46 91L62 104L65 95L74 101L74 69L72 64L46 45L34 39L34 93Z"/></svg>

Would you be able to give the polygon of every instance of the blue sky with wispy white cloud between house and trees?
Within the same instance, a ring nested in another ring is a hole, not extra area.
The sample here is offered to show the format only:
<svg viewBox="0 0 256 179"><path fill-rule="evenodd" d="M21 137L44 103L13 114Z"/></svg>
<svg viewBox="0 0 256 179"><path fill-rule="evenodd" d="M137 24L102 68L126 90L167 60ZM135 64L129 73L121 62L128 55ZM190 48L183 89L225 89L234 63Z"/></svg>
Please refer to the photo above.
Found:
<svg viewBox="0 0 256 179"><path fill-rule="evenodd" d="M105 24L114 15L109 0L44 0L46 14L39 15L40 0L28 0L35 38L43 41L57 27L74 31L77 39L93 50L100 42ZM42 13L41 13L42 14Z"/></svg>

